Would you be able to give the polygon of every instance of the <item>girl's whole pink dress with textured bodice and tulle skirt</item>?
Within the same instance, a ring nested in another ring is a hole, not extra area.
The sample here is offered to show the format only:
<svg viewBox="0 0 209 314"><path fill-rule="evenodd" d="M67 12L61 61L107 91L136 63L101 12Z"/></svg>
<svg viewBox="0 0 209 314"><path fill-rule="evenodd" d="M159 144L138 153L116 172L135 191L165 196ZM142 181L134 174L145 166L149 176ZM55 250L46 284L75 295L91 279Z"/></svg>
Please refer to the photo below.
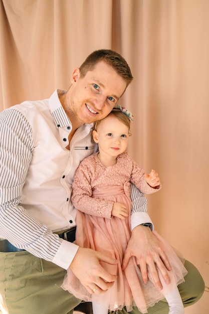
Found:
<svg viewBox="0 0 209 314"><path fill-rule="evenodd" d="M82 300L100 303L110 310L126 306L127 311L131 311L132 306L137 306L145 313L147 307L154 305L164 296L157 290L152 280L147 284L143 283L135 257L130 259L124 271L121 269L123 255L131 236L129 186L132 182L146 194L158 190L146 183L144 171L132 161L128 153L119 155L117 164L111 167L102 165L97 154L83 160L74 177L72 202L78 209L76 244L116 258L117 265L105 262L101 264L109 273L117 274L117 281L105 293L90 294L68 269L62 288ZM129 213L127 219L111 218L114 202L126 204ZM183 282L186 269L182 262L162 237L155 231L154 234L162 242L164 251L170 259L175 285Z"/></svg>

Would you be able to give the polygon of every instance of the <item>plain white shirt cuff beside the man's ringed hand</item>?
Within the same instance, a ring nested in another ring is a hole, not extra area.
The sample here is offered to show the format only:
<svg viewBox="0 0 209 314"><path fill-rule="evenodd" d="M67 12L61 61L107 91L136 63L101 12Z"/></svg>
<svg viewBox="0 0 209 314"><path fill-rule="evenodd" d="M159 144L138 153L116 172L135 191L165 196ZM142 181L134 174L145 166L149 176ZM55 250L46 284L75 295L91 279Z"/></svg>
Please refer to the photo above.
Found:
<svg viewBox="0 0 209 314"><path fill-rule="evenodd" d="M67 270L74 259L78 248L78 245L63 240L52 262Z"/></svg>

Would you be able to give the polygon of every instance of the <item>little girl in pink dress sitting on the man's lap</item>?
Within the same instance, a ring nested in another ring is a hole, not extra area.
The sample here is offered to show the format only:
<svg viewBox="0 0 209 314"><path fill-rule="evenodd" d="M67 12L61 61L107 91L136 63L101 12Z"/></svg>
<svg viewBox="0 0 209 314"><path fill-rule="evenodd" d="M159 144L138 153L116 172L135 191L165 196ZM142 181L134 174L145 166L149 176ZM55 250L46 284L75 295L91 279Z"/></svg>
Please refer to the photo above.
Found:
<svg viewBox="0 0 209 314"><path fill-rule="evenodd" d="M169 272L171 283L158 290L149 274L147 284L143 283L140 268L133 256L128 266L122 270L121 263L131 236L129 197L130 182L142 193L153 193L160 189L160 181L154 170L149 175L132 161L125 152L130 133L132 115L121 106L94 125L94 141L99 152L83 160L76 171L73 183L72 202L77 209L76 244L92 248L116 258L118 264L102 262L117 280L105 293L95 294L97 286L89 293L79 279L68 269L62 287L76 297L93 302L94 314L107 314L108 309L117 310L132 306L145 313L149 306L166 298L169 313L184 313L177 284L184 281L186 269L172 248L155 232L172 265ZM159 273L160 275L160 273Z"/></svg>

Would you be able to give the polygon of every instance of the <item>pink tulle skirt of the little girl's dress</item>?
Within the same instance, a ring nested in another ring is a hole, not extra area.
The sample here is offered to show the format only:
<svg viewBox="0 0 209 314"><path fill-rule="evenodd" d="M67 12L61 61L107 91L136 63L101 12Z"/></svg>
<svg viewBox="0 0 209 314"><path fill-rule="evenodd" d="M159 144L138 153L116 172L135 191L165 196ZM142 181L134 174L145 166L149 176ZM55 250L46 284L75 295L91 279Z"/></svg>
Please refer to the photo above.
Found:
<svg viewBox="0 0 209 314"><path fill-rule="evenodd" d="M117 217L101 218L77 211L76 244L117 259L116 265L101 262L105 270L111 274L117 274L117 280L105 293L90 294L71 269L68 269L62 288L84 301L102 304L110 310L122 309L126 306L127 311L131 311L133 306L137 306L139 311L146 313L147 308L163 299L164 295L154 285L151 274L149 274L148 283L143 283L135 257L130 258L125 270L121 269L124 252L131 236L131 202L128 187L111 187L103 191L94 191L94 197L126 204L129 211L129 217L126 220ZM160 241L172 266L170 271L172 281L170 285L167 285L169 287L166 287L172 290L173 285L184 281L183 277L187 273L183 266L183 259L177 256L173 248L156 231L153 231L153 234Z"/></svg>

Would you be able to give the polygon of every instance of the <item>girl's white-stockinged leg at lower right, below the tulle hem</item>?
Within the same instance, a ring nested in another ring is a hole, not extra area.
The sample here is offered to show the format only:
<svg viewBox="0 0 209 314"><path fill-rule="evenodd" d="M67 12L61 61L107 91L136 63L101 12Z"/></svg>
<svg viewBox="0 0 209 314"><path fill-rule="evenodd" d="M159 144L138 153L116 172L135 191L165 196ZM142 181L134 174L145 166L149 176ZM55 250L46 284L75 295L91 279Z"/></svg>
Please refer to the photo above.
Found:
<svg viewBox="0 0 209 314"><path fill-rule="evenodd" d="M165 298L169 305L169 314L184 314L183 303L177 286Z"/></svg>

